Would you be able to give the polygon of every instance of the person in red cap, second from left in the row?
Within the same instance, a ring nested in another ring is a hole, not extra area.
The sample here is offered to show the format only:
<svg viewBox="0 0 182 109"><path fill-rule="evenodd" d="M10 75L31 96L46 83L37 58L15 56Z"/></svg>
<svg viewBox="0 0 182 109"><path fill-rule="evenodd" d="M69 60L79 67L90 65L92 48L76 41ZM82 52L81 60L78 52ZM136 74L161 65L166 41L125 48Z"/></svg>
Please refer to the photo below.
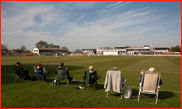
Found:
<svg viewBox="0 0 182 109"><path fill-rule="evenodd" d="M46 70L44 70L44 68L41 66L41 64L37 64L37 67L34 67L34 69L35 69L35 73L33 76L36 77L37 79L45 81L46 77L43 72Z"/></svg>

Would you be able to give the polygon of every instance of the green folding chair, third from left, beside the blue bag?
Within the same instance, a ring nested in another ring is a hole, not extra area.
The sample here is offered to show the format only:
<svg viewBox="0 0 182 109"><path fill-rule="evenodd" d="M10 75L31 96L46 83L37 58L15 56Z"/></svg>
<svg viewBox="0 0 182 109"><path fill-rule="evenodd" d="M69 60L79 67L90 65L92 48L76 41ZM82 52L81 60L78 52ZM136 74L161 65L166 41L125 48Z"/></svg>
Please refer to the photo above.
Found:
<svg viewBox="0 0 182 109"><path fill-rule="evenodd" d="M68 86L69 80L67 78L67 72L65 68L57 70L57 86ZM67 85L59 85L59 80L67 80Z"/></svg>

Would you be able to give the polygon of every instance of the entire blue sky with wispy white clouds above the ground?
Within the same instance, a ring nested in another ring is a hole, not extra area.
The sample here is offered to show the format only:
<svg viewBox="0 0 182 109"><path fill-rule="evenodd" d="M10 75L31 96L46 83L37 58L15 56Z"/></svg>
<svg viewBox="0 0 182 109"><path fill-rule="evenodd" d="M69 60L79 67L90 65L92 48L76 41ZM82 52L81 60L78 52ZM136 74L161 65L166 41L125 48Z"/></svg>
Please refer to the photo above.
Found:
<svg viewBox="0 0 182 109"><path fill-rule="evenodd" d="M32 50L40 40L71 51L181 45L181 2L2 1L1 44Z"/></svg>

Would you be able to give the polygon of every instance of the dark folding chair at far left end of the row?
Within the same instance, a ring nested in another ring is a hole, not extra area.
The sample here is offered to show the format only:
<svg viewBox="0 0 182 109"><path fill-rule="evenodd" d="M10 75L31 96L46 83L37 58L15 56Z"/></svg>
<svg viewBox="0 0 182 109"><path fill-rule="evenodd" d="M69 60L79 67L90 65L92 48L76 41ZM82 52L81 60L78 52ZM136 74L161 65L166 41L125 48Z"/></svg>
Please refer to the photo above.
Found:
<svg viewBox="0 0 182 109"><path fill-rule="evenodd" d="M14 66L14 78L15 78L15 81L17 81L18 79L21 81L24 81L25 75L23 75L21 66Z"/></svg>

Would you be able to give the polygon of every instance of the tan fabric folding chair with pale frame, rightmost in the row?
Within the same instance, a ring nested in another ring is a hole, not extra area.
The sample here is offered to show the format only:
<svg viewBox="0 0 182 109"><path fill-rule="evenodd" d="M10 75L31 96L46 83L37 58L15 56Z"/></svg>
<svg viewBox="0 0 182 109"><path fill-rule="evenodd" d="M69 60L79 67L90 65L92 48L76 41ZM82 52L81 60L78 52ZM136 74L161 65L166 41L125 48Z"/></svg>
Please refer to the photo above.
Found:
<svg viewBox="0 0 182 109"><path fill-rule="evenodd" d="M139 94L138 94L138 102L140 98L140 93L147 93L147 94L155 94L156 95L156 103L158 100L158 95L159 95L159 82L160 82L160 73L144 73L142 76L142 81L139 84Z"/></svg>

